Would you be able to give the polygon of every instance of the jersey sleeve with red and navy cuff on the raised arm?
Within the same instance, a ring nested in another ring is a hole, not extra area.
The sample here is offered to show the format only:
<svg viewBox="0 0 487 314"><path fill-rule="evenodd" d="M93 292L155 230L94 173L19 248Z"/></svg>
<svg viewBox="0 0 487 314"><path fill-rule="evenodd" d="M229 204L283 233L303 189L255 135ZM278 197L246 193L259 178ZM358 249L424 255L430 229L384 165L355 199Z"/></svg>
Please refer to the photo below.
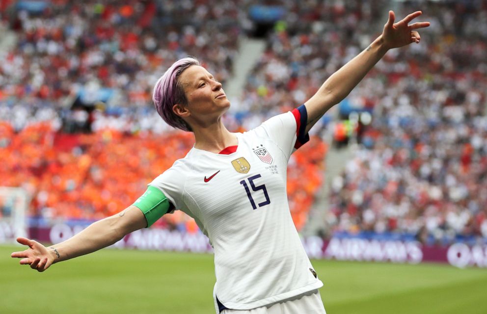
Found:
<svg viewBox="0 0 487 314"><path fill-rule="evenodd" d="M294 151L309 141L309 135L305 133L307 119L306 107L300 105L293 111L270 118L253 131L271 138L289 159Z"/></svg>

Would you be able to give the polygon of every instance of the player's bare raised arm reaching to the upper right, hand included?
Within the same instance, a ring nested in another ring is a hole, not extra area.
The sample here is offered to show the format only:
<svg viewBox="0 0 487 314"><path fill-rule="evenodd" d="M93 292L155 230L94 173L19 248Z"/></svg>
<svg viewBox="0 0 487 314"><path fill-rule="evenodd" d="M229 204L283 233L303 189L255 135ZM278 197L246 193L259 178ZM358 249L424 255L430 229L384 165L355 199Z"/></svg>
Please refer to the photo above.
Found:
<svg viewBox="0 0 487 314"><path fill-rule="evenodd" d="M394 23L394 12L389 11L389 20L384 25L382 34L367 49L360 52L326 79L318 92L304 104L308 113L306 132L329 108L347 97L389 49L403 47L410 43L419 43L421 37L415 29L428 27L430 23L408 23L420 15L421 11L417 11L409 14L398 23Z"/></svg>

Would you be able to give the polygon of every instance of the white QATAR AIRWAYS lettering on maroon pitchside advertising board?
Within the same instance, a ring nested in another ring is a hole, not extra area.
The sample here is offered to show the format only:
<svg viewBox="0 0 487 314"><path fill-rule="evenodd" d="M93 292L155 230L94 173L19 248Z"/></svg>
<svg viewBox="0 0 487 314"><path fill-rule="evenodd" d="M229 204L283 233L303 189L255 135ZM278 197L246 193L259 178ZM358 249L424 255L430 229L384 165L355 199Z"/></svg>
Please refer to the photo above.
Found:
<svg viewBox="0 0 487 314"><path fill-rule="evenodd" d="M55 224L49 228L49 238L41 241L59 243L76 235L86 225L70 227ZM37 231L37 235L42 232ZM13 238L13 229L0 223L0 243ZM332 238L327 244L319 236L302 238L303 246L312 259L336 259L340 261L377 262L449 262L456 267L487 267L487 246L468 246L464 243L452 244L447 248L422 246L416 241L378 241L361 238ZM202 233L183 233L164 229L142 229L126 235L112 245L117 248L137 248L142 250L187 251L212 253L208 238Z"/></svg>

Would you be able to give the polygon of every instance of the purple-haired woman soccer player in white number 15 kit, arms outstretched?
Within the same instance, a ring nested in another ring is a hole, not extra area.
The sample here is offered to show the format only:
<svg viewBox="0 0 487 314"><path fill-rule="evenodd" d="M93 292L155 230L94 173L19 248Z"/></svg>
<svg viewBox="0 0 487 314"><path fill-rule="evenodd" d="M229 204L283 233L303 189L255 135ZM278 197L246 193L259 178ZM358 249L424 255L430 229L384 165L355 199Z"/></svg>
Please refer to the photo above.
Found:
<svg viewBox="0 0 487 314"><path fill-rule="evenodd" d="M409 24L421 12L394 23L330 78L304 105L272 117L245 133L221 122L230 107L221 84L194 58L176 61L159 79L153 100L169 125L192 131L194 147L119 214L93 223L52 247L20 237L29 248L12 253L21 264L44 271L55 262L107 247L180 209L193 217L215 250L217 313L325 313L322 282L301 245L289 212L289 157L308 140L308 131L338 104L392 48L419 43Z"/></svg>

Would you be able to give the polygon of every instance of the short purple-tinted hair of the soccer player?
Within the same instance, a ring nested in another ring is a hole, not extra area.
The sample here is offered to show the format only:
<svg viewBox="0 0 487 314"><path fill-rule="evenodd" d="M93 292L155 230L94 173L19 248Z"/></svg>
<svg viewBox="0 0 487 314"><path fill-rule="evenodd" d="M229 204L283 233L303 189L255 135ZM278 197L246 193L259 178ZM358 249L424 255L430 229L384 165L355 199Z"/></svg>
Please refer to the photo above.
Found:
<svg viewBox="0 0 487 314"><path fill-rule="evenodd" d="M188 105L188 99L186 98L183 85L179 82L179 77L191 65L200 65L200 63L194 57L187 57L174 62L164 75L158 79L152 94L152 100L162 119L173 128L190 132L193 130L189 124L175 114L172 111L172 107L176 104Z"/></svg>

